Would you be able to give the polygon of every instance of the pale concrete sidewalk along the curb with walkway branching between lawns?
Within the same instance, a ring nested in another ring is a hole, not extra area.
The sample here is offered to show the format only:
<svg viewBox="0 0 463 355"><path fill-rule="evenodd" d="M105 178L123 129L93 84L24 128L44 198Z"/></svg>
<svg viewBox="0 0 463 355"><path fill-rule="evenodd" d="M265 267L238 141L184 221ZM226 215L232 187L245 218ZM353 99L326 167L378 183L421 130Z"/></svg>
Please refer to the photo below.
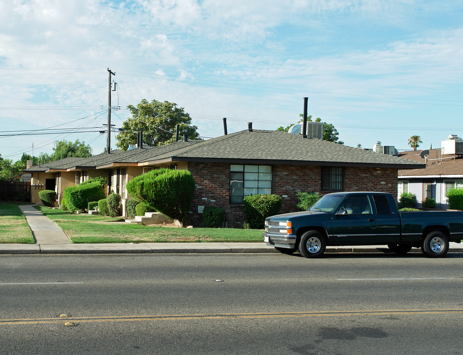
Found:
<svg viewBox="0 0 463 355"><path fill-rule="evenodd" d="M265 243L105 243L73 244L66 233L34 206L19 206L26 216L36 244L0 244L0 254L137 254L137 253L276 253ZM327 247L326 253L384 253L387 246ZM413 248L410 252L420 252ZM463 252L450 243L449 252Z"/></svg>

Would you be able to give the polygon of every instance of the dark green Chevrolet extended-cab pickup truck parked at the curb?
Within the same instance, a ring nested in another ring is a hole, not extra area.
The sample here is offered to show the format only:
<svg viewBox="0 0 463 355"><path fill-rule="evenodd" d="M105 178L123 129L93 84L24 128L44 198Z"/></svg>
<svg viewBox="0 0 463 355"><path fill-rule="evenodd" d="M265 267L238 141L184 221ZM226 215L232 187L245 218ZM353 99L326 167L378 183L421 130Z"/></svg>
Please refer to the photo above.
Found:
<svg viewBox="0 0 463 355"><path fill-rule="evenodd" d="M387 245L405 254L413 247L430 257L447 254L463 239L462 211L398 212L384 192L326 194L309 211L265 219L264 241L283 253L320 257L326 246Z"/></svg>

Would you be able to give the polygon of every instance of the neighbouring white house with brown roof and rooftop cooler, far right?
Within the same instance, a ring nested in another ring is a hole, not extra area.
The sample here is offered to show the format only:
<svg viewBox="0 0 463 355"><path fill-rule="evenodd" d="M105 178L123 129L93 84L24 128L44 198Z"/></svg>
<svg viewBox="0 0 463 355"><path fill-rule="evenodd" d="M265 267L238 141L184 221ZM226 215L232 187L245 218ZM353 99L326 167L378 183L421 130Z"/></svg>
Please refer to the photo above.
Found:
<svg viewBox="0 0 463 355"><path fill-rule="evenodd" d="M455 135L441 142L442 148L411 150L399 153L400 158L426 163L426 169L398 171L397 196L402 192L416 195L418 206L433 198L436 208L448 209L447 191L463 189L463 140Z"/></svg>

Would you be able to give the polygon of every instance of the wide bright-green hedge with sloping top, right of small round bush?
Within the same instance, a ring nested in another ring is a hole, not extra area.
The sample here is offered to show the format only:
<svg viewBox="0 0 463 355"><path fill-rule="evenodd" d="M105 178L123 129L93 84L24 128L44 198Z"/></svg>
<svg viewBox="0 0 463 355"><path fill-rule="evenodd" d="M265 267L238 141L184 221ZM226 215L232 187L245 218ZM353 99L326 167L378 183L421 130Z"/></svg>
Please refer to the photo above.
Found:
<svg viewBox="0 0 463 355"><path fill-rule="evenodd" d="M98 200L105 196L105 191L99 182L91 182L64 189L63 200L71 212L84 211L88 208L88 200Z"/></svg>

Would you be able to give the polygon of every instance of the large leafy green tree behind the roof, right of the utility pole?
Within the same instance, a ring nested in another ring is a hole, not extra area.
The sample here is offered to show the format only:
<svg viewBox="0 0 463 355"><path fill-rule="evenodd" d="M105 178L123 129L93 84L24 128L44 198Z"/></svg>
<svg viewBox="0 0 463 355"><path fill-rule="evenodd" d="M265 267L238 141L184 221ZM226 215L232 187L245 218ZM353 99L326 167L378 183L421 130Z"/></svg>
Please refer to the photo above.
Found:
<svg viewBox="0 0 463 355"><path fill-rule="evenodd" d="M176 126L179 135L187 135L190 140L199 139L198 127L191 125L191 117L183 107L168 101L160 102L143 99L137 106L129 105L132 117L124 121L121 133L116 136L116 145L127 150L137 143L137 132L143 131L143 144L158 146L175 142Z"/></svg>

